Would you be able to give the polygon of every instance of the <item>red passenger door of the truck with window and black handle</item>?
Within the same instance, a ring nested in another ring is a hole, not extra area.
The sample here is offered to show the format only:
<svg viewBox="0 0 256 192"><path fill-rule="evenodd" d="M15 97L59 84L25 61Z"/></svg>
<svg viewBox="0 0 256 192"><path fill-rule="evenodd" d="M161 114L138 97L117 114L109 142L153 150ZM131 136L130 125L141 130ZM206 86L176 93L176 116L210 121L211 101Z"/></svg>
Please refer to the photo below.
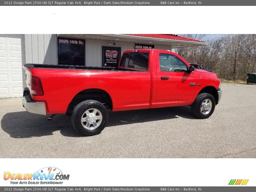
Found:
<svg viewBox="0 0 256 192"><path fill-rule="evenodd" d="M157 53L157 97L158 105L190 103L195 94L197 77L189 73L189 66L179 55Z"/></svg>

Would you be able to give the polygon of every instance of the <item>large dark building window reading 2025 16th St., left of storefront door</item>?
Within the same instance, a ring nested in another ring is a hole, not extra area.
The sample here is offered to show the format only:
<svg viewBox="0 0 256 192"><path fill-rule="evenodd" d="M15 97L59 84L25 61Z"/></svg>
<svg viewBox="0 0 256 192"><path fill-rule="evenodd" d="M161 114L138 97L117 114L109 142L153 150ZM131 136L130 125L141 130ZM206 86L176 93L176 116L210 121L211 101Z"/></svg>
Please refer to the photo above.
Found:
<svg viewBox="0 0 256 192"><path fill-rule="evenodd" d="M85 40L58 37L58 65L85 65Z"/></svg>

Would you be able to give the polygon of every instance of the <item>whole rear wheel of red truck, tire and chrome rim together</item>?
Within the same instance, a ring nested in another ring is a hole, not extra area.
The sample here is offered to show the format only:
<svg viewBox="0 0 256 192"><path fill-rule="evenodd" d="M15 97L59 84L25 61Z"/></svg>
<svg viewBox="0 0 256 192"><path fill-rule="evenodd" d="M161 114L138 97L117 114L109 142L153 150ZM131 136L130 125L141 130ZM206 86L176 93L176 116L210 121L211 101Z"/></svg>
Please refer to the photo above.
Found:
<svg viewBox="0 0 256 192"><path fill-rule="evenodd" d="M109 114L102 103L87 100L75 106L71 115L71 122L79 134L86 136L101 133L107 124L108 118Z"/></svg>

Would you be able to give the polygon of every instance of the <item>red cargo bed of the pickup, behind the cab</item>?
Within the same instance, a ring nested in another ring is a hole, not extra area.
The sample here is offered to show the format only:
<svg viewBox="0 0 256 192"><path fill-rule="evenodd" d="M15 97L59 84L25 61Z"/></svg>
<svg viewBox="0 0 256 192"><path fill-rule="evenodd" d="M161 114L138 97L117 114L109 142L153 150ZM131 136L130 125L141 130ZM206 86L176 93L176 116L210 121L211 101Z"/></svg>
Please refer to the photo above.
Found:
<svg viewBox="0 0 256 192"><path fill-rule="evenodd" d="M86 90L108 94L113 102L113 111L149 108L149 71L41 64L25 64L23 69L30 91L31 77L40 78L43 95L31 95L31 99L45 102L46 114L65 114L75 96L82 95Z"/></svg>

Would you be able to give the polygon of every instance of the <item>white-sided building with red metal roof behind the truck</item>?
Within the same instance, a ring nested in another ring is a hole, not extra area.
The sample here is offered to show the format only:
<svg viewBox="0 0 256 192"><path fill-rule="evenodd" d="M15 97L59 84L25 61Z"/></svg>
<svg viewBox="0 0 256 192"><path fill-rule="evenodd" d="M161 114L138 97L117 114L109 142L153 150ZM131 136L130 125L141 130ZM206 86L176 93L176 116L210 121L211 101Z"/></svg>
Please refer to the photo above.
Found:
<svg viewBox="0 0 256 192"><path fill-rule="evenodd" d="M127 49L207 44L173 34L0 34L0 98L22 97L25 63L116 66Z"/></svg>

